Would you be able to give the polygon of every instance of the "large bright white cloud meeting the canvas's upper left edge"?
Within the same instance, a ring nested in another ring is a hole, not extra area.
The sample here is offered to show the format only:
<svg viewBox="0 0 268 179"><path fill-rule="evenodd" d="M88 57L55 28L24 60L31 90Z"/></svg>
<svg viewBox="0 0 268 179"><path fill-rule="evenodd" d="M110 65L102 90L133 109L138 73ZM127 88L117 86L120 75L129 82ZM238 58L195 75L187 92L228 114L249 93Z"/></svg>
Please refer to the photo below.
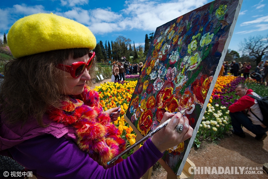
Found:
<svg viewBox="0 0 268 179"><path fill-rule="evenodd" d="M125 18L120 25L130 29L155 30L156 27L200 7L206 2L207 0L178 0L167 3L126 1L127 8L122 11L130 17Z"/></svg>

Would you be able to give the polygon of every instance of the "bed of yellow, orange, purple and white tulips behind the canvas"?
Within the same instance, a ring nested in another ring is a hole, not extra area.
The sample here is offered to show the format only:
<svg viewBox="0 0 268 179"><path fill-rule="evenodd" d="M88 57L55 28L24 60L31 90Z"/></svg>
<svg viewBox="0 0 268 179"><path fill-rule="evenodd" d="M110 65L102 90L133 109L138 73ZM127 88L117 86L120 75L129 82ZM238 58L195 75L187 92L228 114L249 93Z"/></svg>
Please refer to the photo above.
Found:
<svg viewBox="0 0 268 179"><path fill-rule="evenodd" d="M219 76L194 140L194 145L199 147L202 139L213 141L217 138L223 138L225 133L230 130L232 125L230 124L228 107L239 99L235 93L235 87L240 83L246 84L259 95L268 95L268 87L255 80L245 80L231 75ZM107 84L101 84L94 89L99 92L100 102L104 110L121 106L121 115L114 124L119 129L118 135L127 141L127 146L134 144L136 138L135 132L124 120L124 114L128 109L136 84L137 81L107 82ZM126 157L127 155L124 156L124 158Z"/></svg>

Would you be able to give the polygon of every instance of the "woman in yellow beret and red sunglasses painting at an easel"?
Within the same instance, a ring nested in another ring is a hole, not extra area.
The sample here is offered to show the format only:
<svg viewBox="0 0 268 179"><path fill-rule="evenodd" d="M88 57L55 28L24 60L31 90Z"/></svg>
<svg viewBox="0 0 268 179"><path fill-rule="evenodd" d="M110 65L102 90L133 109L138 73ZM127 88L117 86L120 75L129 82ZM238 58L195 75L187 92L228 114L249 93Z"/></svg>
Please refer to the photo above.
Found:
<svg viewBox="0 0 268 179"><path fill-rule="evenodd" d="M0 94L0 152L38 179L138 179L166 149L191 137L188 119L166 112L159 119L171 118L165 128L133 155L108 166L125 143L110 123L120 108L103 111L98 92L87 86L95 64L91 31L40 13L15 22L7 41L15 58L5 66ZM183 125L179 132L177 124Z"/></svg>

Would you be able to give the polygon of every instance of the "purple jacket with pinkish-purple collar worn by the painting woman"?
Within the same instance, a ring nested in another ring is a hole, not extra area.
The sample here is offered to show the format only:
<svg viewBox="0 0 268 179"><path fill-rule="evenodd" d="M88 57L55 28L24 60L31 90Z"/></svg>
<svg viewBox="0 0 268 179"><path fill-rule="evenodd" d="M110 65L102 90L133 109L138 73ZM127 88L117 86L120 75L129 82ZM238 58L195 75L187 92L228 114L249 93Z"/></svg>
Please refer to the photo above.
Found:
<svg viewBox="0 0 268 179"><path fill-rule="evenodd" d="M44 178L140 178L163 154L150 139L124 161L104 169L76 145L75 129L43 117L42 128L33 119L21 124L0 126L0 152Z"/></svg>

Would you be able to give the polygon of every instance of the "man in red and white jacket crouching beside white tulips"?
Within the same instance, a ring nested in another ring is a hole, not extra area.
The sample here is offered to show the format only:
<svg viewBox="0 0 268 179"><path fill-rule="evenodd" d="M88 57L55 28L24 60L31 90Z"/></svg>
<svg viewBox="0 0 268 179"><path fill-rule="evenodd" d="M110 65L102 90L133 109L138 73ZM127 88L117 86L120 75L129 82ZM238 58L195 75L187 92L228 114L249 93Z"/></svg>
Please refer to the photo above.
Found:
<svg viewBox="0 0 268 179"><path fill-rule="evenodd" d="M267 136L266 132L268 131L268 128L253 115L254 113L258 118L263 120L263 115L261 114L257 100L248 95L254 95L258 98L260 98L260 96L253 92L253 90L248 89L244 84L237 85L236 93L239 95L240 99L229 106L233 126L232 133L244 138L245 133L241 128L242 125L256 135L256 140L264 140Z"/></svg>

